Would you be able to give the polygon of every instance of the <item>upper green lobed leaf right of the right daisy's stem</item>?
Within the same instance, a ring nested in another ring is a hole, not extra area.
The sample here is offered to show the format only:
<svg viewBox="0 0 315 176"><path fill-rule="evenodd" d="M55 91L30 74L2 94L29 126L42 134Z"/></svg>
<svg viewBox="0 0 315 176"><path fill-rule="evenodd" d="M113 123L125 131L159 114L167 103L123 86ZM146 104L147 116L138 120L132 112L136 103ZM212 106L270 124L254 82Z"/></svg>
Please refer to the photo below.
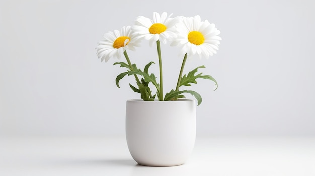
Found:
<svg viewBox="0 0 315 176"><path fill-rule="evenodd" d="M216 85L215 90L216 90L218 88L218 84L217 84L216 80L212 76L210 76L210 75L202 75L202 73L199 73L199 74L195 75L199 68L206 68L206 67L203 66L203 65L199 66L199 67L195 68L194 70L190 71L187 74L187 76L184 75L182 77L182 79L181 79L180 86L191 86L191 83L197 84L196 79L197 78L203 78L203 79L209 79L209 80L215 82L215 85Z"/></svg>

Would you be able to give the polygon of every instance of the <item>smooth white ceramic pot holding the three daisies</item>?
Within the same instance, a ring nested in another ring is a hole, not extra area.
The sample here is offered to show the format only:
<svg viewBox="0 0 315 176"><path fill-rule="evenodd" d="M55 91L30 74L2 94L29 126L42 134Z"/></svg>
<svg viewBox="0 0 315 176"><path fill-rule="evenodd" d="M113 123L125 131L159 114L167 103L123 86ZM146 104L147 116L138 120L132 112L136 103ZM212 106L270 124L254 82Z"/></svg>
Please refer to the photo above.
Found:
<svg viewBox="0 0 315 176"><path fill-rule="evenodd" d="M194 100L127 101L126 139L138 164L181 165L191 155L195 138Z"/></svg>

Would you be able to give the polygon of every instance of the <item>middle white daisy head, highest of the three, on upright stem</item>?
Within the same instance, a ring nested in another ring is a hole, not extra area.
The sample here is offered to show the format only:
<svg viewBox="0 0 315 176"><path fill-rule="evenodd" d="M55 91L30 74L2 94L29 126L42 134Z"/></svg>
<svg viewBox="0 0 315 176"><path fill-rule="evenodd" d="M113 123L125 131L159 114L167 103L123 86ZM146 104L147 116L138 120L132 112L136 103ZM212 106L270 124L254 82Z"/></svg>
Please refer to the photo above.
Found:
<svg viewBox="0 0 315 176"><path fill-rule="evenodd" d="M160 16L159 13L153 12L153 20L139 16L132 30L140 38L144 37L145 40L149 40L150 46L157 40L166 44L167 39L176 37L175 25L181 20L179 17L171 18L172 15L167 16L167 13L163 12Z"/></svg>

